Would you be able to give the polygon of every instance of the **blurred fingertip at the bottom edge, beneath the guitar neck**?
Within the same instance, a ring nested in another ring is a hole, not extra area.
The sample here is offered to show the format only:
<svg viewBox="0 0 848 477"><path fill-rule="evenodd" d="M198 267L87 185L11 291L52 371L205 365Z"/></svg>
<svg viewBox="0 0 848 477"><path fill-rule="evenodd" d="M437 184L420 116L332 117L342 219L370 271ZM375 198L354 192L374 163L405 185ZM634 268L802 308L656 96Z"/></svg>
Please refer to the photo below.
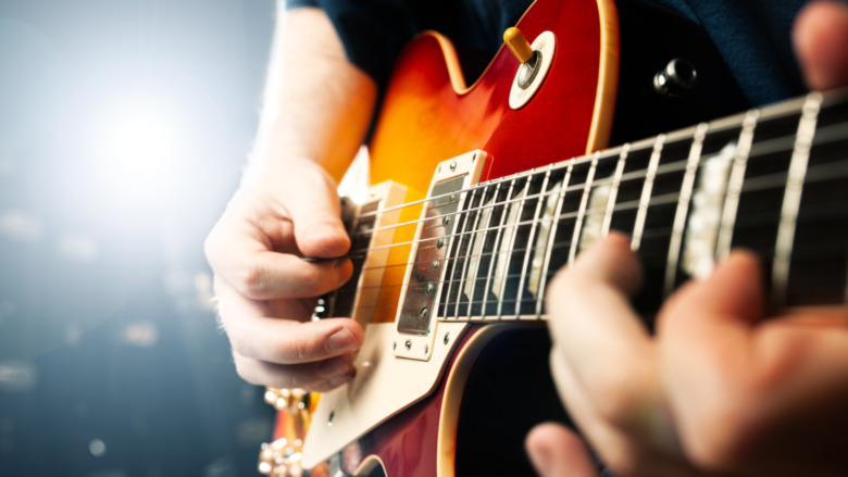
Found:
<svg viewBox="0 0 848 477"><path fill-rule="evenodd" d="M536 472L544 477L598 475L586 444L560 424L546 423L534 427L527 435L525 447Z"/></svg>

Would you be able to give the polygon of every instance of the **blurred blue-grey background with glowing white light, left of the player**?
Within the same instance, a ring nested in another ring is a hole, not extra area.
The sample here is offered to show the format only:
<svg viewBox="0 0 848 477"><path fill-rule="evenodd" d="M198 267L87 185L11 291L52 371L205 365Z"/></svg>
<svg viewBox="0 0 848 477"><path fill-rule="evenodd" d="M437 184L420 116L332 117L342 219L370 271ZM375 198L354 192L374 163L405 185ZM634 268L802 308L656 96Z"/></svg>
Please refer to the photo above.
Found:
<svg viewBox="0 0 848 477"><path fill-rule="evenodd" d="M273 0L0 0L0 476L253 476L202 241Z"/></svg>

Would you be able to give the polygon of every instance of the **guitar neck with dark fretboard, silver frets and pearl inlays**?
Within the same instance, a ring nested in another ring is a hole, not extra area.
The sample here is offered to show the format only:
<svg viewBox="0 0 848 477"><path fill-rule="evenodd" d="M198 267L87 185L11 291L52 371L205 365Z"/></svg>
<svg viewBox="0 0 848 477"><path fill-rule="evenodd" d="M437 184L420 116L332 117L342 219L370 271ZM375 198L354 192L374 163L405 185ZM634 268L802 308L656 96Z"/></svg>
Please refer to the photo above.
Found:
<svg viewBox="0 0 848 477"><path fill-rule="evenodd" d="M445 250L444 272L410 286L438 290L439 319L541 318L550 277L620 230L645 266L646 312L737 247L761 256L774 307L843 303L845 97L813 93L461 194L434 191L431 228L441 221L444 233L420 247Z"/></svg>

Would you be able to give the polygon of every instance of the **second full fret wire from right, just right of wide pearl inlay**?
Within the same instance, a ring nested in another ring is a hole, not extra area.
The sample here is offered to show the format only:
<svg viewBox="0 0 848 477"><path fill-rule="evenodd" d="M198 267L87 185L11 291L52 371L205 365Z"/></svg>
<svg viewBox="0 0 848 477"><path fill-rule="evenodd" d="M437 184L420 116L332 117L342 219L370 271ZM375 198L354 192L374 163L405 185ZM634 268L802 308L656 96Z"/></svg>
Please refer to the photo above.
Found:
<svg viewBox="0 0 848 477"><path fill-rule="evenodd" d="M733 168L731 177L727 180L727 191L725 192L724 210L722 211L721 228L719 229L718 244L715 246L715 259L724 260L731 253L731 241L733 240L733 227L736 224L736 211L739 208L739 194L741 193L743 183L745 181L745 168L748 163L748 154L751 151L753 141L753 129L757 126L757 120L760 112L749 111L743 121L743 129L736 143L736 154L733 158Z"/></svg>

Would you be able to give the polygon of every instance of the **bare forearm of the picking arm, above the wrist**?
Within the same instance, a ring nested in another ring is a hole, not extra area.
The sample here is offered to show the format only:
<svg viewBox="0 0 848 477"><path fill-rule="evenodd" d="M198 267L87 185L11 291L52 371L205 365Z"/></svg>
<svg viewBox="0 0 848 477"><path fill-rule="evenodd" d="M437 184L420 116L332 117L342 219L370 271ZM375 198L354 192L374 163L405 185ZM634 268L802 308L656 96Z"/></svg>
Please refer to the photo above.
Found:
<svg viewBox="0 0 848 477"><path fill-rule="evenodd" d="M247 177L310 160L338 181L362 143L376 95L323 11L280 12Z"/></svg>

